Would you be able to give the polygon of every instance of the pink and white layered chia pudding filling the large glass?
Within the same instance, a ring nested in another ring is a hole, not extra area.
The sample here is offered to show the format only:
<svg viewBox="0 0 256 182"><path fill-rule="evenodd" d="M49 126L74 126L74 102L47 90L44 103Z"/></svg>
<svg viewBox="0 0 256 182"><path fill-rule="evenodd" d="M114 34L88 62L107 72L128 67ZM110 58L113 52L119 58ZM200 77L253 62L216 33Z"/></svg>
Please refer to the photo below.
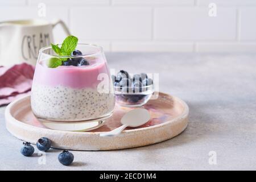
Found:
<svg viewBox="0 0 256 182"><path fill-rule="evenodd" d="M48 68L36 65L31 107L37 118L51 121L85 121L112 115L114 93L97 90L100 73L109 77L106 61L88 59L90 65ZM109 79L110 82L110 79ZM111 87L112 84L109 84Z"/></svg>

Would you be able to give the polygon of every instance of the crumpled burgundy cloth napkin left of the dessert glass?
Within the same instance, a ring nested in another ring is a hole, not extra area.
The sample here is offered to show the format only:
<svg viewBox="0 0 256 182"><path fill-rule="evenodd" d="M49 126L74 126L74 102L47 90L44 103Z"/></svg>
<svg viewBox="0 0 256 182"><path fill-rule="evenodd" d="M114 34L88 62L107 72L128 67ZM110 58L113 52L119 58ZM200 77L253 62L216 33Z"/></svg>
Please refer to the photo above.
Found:
<svg viewBox="0 0 256 182"><path fill-rule="evenodd" d="M30 94L34 71L27 63L0 66L0 106Z"/></svg>

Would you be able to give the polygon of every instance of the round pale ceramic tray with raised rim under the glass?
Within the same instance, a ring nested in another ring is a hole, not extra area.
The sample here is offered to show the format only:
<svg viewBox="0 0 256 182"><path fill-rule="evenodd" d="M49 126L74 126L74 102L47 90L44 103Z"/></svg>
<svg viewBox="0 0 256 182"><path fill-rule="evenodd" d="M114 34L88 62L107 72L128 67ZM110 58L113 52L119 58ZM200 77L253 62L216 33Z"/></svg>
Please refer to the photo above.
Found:
<svg viewBox="0 0 256 182"><path fill-rule="evenodd" d="M6 127L16 138L36 143L41 137L52 140L52 147L67 150L118 150L162 142L180 134L188 124L188 106L184 101L159 93L157 100L143 106L151 119L137 128L127 128L115 137L100 137L101 132L119 126L122 115L133 108L116 105L114 114L105 125L87 132L47 129L32 114L30 96L20 98L6 107Z"/></svg>

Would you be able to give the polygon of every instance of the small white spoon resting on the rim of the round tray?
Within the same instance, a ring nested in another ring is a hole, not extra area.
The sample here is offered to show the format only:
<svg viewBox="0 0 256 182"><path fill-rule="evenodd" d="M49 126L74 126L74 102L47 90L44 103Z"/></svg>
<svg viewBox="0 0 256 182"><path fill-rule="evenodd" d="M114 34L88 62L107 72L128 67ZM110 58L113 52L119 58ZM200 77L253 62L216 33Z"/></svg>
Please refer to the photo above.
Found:
<svg viewBox="0 0 256 182"><path fill-rule="evenodd" d="M123 115L121 119L122 126L109 131L107 133L100 134L100 137L112 137L120 134L126 127L137 127L144 125L144 123L150 120L150 113L146 109L133 109Z"/></svg>

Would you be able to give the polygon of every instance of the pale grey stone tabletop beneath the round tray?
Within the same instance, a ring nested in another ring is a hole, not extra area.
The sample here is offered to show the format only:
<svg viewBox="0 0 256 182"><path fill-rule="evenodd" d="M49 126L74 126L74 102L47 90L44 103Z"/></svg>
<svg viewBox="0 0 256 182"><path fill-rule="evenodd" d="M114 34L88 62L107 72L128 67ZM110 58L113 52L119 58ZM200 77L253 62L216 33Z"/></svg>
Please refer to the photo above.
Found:
<svg viewBox="0 0 256 182"><path fill-rule="evenodd" d="M62 166L53 149L31 157L5 128L0 107L1 170L214 170L256 169L256 55L106 53L109 67L159 73L159 90L189 106L187 129L151 146L117 151L72 151Z"/></svg>

